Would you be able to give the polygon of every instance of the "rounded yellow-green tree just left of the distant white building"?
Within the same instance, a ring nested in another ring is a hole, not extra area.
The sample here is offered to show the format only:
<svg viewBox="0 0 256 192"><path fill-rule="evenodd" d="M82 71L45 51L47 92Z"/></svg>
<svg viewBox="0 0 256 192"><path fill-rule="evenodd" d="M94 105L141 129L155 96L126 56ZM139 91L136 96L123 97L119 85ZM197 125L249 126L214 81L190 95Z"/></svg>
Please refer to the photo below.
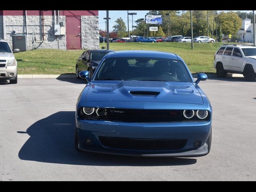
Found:
<svg viewBox="0 0 256 192"><path fill-rule="evenodd" d="M236 34L242 26L242 19L233 11L218 14L218 24L221 26L222 33Z"/></svg>

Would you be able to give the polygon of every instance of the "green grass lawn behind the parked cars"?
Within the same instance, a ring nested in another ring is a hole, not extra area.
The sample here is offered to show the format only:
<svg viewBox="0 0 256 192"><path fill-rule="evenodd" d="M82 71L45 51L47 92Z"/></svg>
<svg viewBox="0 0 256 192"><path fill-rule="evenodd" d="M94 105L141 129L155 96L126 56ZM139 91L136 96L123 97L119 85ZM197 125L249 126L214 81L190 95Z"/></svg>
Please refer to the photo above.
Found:
<svg viewBox="0 0 256 192"><path fill-rule="evenodd" d="M216 72L213 68L214 53L222 43L110 43L112 50L155 50L178 54L192 73ZM100 47L103 44L100 43ZM105 44L106 46L106 44ZM76 59L84 50L30 50L15 53L18 74L67 74L74 73Z"/></svg>

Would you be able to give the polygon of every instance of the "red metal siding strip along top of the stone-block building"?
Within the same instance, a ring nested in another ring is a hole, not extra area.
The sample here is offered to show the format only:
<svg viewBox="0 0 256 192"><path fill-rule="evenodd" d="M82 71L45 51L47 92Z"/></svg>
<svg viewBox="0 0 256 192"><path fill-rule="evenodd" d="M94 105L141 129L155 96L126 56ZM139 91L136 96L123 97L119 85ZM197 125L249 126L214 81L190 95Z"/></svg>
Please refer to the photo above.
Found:
<svg viewBox="0 0 256 192"><path fill-rule="evenodd" d="M3 13L4 12L4 13ZM6 16L19 16L19 15L25 15L24 10L16 10L16 11L11 11L11 10L6 10L0 12L0 15L6 15ZM55 13L57 15L57 11ZM27 15L28 16L41 16L42 11L41 10L27 10ZM54 15L53 10L48 10L44 11L44 16L52 16ZM98 16L98 10L60 10L60 16Z"/></svg>

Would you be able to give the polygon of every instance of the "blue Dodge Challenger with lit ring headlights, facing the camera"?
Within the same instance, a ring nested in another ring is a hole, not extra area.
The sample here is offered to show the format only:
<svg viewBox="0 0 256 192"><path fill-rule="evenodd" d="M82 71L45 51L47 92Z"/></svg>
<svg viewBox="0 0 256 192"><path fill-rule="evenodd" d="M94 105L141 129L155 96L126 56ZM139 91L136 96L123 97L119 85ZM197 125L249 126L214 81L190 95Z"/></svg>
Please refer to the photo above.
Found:
<svg viewBox="0 0 256 192"><path fill-rule="evenodd" d="M102 58L76 103L77 150L127 156L204 156L212 107L180 56L117 51Z"/></svg>

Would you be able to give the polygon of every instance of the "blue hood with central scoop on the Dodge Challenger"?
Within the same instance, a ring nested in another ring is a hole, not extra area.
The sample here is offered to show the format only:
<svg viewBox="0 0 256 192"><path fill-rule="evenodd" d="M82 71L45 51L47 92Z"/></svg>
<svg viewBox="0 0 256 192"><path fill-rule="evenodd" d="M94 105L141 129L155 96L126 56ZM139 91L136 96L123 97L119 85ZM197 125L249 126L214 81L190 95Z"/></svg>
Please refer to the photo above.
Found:
<svg viewBox="0 0 256 192"><path fill-rule="evenodd" d="M143 101L203 104L193 83L92 81L86 101Z"/></svg>

